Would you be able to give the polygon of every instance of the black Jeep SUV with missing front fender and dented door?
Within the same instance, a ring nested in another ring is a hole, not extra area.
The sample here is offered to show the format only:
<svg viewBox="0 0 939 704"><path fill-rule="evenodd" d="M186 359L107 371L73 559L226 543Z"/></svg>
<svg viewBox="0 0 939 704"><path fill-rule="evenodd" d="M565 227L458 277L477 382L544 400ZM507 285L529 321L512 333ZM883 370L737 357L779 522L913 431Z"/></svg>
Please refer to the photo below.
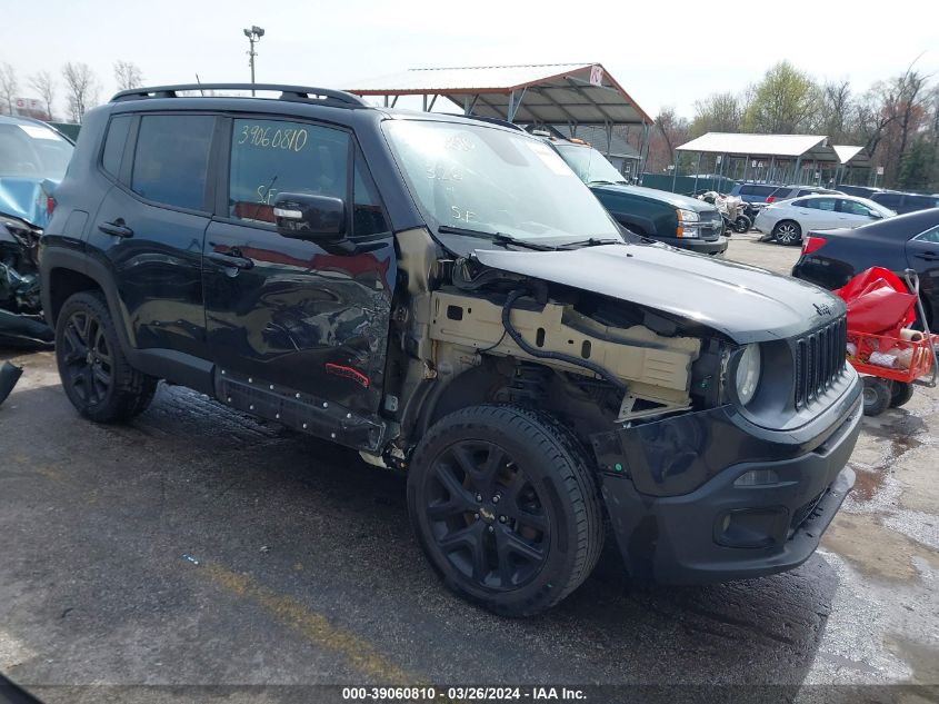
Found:
<svg viewBox="0 0 939 704"><path fill-rule="evenodd" d="M166 379L354 448L507 615L570 594L608 525L643 581L815 551L861 418L837 298L623 231L510 126L206 88L251 87L90 111L57 191L42 296L81 414Z"/></svg>

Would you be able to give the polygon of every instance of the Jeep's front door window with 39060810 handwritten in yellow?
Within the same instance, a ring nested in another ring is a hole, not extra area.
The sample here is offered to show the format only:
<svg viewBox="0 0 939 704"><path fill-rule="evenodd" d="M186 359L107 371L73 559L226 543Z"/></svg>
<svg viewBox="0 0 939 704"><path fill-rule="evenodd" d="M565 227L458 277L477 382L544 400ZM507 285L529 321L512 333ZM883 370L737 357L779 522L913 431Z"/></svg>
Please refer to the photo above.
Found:
<svg viewBox="0 0 939 704"><path fill-rule="evenodd" d="M271 224L279 192L348 201L349 135L284 120L234 120L229 216Z"/></svg>

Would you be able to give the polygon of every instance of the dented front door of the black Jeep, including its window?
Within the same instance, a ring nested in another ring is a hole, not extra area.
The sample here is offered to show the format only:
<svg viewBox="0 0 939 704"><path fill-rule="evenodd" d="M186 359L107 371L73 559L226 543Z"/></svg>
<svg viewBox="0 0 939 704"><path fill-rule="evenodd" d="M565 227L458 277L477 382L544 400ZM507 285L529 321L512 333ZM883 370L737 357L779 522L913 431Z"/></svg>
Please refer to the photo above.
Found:
<svg viewBox="0 0 939 704"><path fill-rule="evenodd" d="M226 119L224 131L204 245L212 358L264 389L374 413L397 271L388 219L352 132L273 117ZM356 247L329 251L279 235L279 192L342 198Z"/></svg>

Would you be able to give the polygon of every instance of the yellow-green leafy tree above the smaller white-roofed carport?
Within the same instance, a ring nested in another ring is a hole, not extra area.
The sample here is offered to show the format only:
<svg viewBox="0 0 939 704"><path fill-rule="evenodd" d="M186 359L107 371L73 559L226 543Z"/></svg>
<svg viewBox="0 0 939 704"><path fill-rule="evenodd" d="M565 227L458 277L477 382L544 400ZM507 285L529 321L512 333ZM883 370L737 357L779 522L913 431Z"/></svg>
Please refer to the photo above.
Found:
<svg viewBox="0 0 939 704"><path fill-rule="evenodd" d="M817 127L821 90L789 61L770 68L753 90L743 116L747 131L798 135Z"/></svg>

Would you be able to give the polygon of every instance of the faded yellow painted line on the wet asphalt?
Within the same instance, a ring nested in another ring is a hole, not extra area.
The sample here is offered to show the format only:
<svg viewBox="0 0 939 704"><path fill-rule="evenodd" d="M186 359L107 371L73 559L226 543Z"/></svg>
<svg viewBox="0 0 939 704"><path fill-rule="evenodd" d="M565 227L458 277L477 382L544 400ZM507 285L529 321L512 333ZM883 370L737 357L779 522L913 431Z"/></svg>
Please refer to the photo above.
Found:
<svg viewBox="0 0 939 704"><path fill-rule="evenodd" d="M300 633L313 645L341 655L360 674L371 681L396 686L426 686L406 670L396 665L364 638L337 626L292 596L277 594L253 578L226 569L216 563L202 563L200 573L217 586L260 604L281 624Z"/></svg>

